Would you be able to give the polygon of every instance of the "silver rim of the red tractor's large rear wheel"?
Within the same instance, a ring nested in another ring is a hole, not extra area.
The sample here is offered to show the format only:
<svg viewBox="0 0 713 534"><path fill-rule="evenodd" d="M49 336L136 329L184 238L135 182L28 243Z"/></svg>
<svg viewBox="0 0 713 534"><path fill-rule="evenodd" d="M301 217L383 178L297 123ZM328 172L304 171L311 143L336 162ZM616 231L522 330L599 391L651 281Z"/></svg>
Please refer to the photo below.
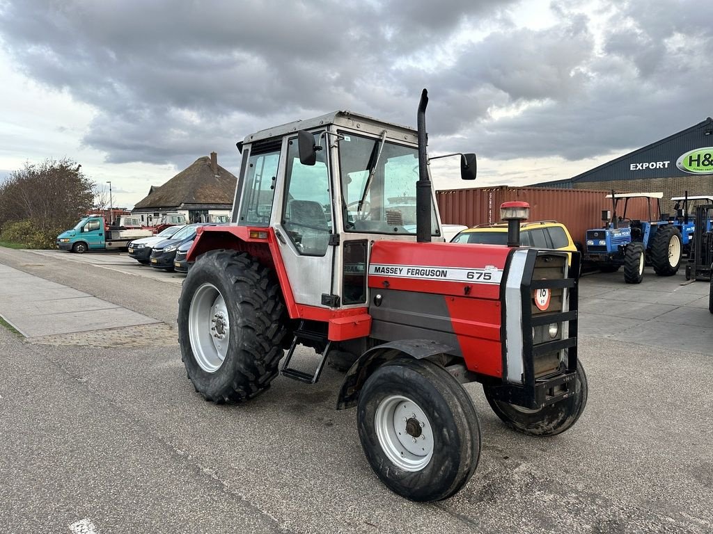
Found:
<svg viewBox="0 0 713 534"><path fill-rule="evenodd" d="M205 372L216 372L230 343L230 319L225 299L215 286L204 283L193 294L188 312L190 348Z"/></svg>

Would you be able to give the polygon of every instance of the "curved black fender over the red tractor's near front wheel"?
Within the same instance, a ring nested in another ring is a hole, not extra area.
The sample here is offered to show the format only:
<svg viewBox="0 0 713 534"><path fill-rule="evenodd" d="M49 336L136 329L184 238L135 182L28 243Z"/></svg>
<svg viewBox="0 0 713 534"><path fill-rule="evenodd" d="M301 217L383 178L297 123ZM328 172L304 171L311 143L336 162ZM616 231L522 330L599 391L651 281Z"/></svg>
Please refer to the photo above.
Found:
<svg viewBox="0 0 713 534"><path fill-rule="evenodd" d="M359 357L359 360L354 362L352 367L349 367L347 376L344 377L342 387L339 389L337 409L356 406L359 392L364 387L366 379L378 367L389 360L404 356L409 356L416 360L440 356L443 358L441 363L445 365L446 360L451 358L450 355L455 353L457 353L456 349L450 345L444 345L432 340L399 340L371 347Z"/></svg>

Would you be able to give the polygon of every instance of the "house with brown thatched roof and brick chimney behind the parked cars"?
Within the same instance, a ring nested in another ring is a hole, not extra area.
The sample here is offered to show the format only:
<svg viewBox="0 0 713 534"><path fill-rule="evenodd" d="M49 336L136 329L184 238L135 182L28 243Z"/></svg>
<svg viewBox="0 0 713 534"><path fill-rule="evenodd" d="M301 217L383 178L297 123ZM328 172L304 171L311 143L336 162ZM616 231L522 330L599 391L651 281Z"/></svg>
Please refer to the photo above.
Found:
<svg viewBox="0 0 713 534"><path fill-rule="evenodd" d="M217 154L211 152L210 157L199 157L162 186L151 186L148 197L134 206L133 213L179 211L188 215L190 222L207 220L209 213L230 213L235 184L235 175L220 167Z"/></svg>

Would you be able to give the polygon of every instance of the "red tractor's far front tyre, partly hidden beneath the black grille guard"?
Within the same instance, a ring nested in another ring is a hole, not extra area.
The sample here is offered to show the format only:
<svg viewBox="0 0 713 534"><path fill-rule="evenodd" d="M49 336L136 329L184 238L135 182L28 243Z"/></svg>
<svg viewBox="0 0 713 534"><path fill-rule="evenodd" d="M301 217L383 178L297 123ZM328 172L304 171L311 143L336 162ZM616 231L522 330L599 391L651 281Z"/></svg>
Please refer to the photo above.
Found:
<svg viewBox="0 0 713 534"><path fill-rule="evenodd" d="M577 422L587 405L587 375L582 362L577 362L575 394L540 409L527 409L493 397L493 387L483 384L488 404L511 429L530 436L555 436Z"/></svg>

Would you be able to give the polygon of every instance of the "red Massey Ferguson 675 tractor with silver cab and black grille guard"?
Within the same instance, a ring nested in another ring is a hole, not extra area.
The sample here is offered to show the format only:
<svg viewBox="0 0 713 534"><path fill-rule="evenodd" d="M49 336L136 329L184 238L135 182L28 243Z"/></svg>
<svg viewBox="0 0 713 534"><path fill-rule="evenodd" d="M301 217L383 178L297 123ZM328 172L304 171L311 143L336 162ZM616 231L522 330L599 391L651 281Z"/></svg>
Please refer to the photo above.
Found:
<svg viewBox="0 0 713 534"><path fill-rule="evenodd" d="M523 203L503 205L508 246L443 242L427 102L424 90L417 131L338 111L238 143L233 224L199 230L178 312L188 377L212 402L348 367L337 408L356 407L369 464L414 501L452 496L476 469L461 384L481 382L498 417L535 436L570 428L587 401L578 254L568 266L520 247ZM461 177L475 174L461 155ZM314 372L291 366L297 345L319 355Z"/></svg>

